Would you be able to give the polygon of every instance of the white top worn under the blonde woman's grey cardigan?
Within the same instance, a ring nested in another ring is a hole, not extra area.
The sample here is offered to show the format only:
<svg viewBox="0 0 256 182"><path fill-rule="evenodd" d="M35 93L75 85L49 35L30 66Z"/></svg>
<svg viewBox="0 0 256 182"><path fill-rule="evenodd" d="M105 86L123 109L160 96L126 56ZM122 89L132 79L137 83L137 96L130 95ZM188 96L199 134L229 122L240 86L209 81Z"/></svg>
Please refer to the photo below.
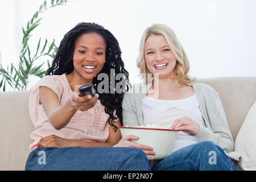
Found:
<svg viewBox="0 0 256 182"><path fill-rule="evenodd" d="M195 94L181 100L158 100L146 96L142 99L142 116L145 125L155 123L156 125L171 127L176 119L189 117L200 127L205 127ZM199 141L192 135L179 131L172 152L197 142Z"/></svg>

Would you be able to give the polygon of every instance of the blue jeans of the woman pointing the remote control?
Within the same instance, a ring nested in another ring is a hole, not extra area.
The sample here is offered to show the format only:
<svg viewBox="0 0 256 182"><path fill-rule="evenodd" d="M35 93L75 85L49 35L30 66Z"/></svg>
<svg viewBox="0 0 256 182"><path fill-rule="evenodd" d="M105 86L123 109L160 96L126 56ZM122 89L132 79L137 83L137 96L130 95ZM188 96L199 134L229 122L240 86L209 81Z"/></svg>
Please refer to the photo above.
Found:
<svg viewBox="0 0 256 182"><path fill-rule="evenodd" d="M138 148L36 148L28 156L25 170L144 171L150 163Z"/></svg>

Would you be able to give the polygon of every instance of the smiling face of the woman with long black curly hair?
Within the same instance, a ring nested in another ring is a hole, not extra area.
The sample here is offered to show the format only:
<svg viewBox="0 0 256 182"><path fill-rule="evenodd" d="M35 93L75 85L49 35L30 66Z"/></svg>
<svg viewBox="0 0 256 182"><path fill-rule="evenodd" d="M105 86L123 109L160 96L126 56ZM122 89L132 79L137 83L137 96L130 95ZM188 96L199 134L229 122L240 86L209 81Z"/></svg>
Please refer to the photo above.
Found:
<svg viewBox="0 0 256 182"><path fill-rule="evenodd" d="M102 69L105 63L106 43L101 35L90 32L82 34L75 42L73 52L73 76L80 82L92 83L93 77Z"/></svg>

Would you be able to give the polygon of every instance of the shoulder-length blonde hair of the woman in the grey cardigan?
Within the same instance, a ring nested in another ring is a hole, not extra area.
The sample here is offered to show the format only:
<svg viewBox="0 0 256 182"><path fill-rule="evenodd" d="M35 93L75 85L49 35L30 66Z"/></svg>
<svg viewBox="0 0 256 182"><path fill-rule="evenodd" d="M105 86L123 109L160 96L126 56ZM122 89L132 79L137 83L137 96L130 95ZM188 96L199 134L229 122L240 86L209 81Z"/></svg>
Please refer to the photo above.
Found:
<svg viewBox="0 0 256 182"><path fill-rule="evenodd" d="M166 38L167 43L169 44L172 53L174 53L174 56L176 58L176 66L174 68L175 71L175 77L174 81L177 85L179 83L181 84L189 84L196 80L196 78L190 78L188 76L189 71L189 62L188 57L181 46L179 40L176 38L176 35L172 29L164 24L152 24L152 26L146 28L144 30L141 43L139 44L139 56L137 59L137 67L140 70L139 75L142 76L143 82L147 84L148 82L151 82L154 78L151 80L148 80L148 73L151 73L147 66L146 61L144 57L144 45L147 40L147 38L151 35L163 35L164 38ZM152 73L151 73L152 74Z"/></svg>

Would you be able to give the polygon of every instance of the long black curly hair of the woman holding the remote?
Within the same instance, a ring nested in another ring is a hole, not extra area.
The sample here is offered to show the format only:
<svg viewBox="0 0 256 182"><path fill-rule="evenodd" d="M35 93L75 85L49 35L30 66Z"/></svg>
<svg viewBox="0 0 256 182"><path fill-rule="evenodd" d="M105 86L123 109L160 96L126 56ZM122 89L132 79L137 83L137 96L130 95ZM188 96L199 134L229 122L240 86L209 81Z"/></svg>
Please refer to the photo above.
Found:
<svg viewBox="0 0 256 182"><path fill-rule="evenodd" d="M53 59L52 66L47 70L46 75L63 75L66 73L67 75L73 72L73 51L75 48L75 42L77 38L85 33L95 32L104 38L106 43L106 62L104 67L101 69L100 73L105 73L108 75L109 86L110 86L110 69L114 69L115 75L118 73L123 73L125 78L122 78L121 81L125 82L126 88L120 87L120 89L127 91L129 89L129 73L124 68L124 63L121 58L121 49L119 47L119 43L117 39L115 39L114 35L106 30L104 27L96 24L96 23L79 23L72 30L70 30L67 34L64 35L63 40L60 42L60 46L57 50L55 59ZM98 75L100 74L98 73ZM97 80L97 76L93 78L93 85L97 91L97 85L101 82L101 80ZM114 85L118 84L119 80L115 80ZM113 85L113 83L112 83ZM119 121L122 123L122 100L123 100L123 92L111 92L110 88L109 93L98 93L99 100L101 104L105 106L105 112L109 114L108 122L111 126L114 126L114 130L117 131L117 126L113 125L113 119L119 118ZM105 90L105 89L104 89ZM117 117L114 117L114 110L116 111Z"/></svg>

